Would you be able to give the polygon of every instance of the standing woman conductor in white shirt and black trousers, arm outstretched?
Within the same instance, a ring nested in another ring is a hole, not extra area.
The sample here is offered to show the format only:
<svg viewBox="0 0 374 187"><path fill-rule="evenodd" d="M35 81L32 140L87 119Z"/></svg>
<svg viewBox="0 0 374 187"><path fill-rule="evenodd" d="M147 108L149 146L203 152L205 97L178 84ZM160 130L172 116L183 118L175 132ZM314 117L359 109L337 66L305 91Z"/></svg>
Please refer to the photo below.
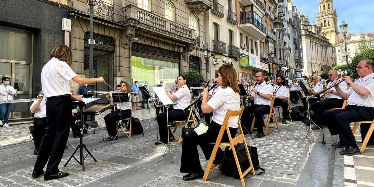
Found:
<svg viewBox="0 0 374 187"><path fill-rule="evenodd" d="M69 81L85 85L104 82L102 77L86 79L78 76L71 70L71 50L68 46L58 45L52 50L50 60L42 69L42 88L46 101L47 132L42 138L39 154L36 159L32 177L37 178L47 169L44 180L53 180L69 175L61 172L58 165L64 155L65 145L68 140L71 120L71 100L83 101L82 98L72 96Z"/></svg>

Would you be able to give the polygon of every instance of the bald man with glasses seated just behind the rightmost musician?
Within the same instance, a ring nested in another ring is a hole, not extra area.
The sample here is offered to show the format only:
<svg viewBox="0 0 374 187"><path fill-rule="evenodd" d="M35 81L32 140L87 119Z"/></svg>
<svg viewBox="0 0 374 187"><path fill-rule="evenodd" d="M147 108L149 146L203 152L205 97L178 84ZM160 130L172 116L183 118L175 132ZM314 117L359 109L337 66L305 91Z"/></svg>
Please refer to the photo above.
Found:
<svg viewBox="0 0 374 187"><path fill-rule="evenodd" d="M336 70L330 70L328 72L328 79L329 83L327 84L327 87L332 85L332 82L335 80L339 80L338 72ZM339 84L339 87L342 91L347 91L347 84L345 82L342 82ZM332 108L341 108L343 106L344 100L338 95L338 92L334 87L327 90L326 92L326 100L324 102L315 102L312 104L311 108L313 112L315 113L315 120L316 123L315 126L312 127L313 130L316 129L322 129L322 115L325 113L325 110L329 110Z"/></svg>

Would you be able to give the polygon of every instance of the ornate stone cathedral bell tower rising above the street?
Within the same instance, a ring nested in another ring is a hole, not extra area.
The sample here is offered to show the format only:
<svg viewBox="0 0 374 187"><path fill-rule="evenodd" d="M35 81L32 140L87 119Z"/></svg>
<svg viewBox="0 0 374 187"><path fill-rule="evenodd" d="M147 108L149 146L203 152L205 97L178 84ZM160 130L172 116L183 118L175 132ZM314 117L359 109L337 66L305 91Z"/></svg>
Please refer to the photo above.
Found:
<svg viewBox="0 0 374 187"><path fill-rule="evenodd" d="M339 42L338 16L332 6L333 0L318 0L317 24L322 28L322 34L330 40L332 45Z"/></svg>

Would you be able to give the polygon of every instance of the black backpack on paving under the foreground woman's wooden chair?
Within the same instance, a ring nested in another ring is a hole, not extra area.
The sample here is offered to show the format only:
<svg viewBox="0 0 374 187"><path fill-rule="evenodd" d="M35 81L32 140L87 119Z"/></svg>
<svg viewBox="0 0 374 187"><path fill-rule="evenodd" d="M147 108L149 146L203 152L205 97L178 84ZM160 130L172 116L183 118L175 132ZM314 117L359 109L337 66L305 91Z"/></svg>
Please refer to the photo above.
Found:
<svg viewBox="0 0 374 187"><path fill-rule="evenodd" d="M248 145L248 150L249 150L249 155L251 156L253 168L255 170L258 170L258 169L262 170L262 172L256 175L264 174L265 169L260 167L260 161L258 160L257 148L251 147ZM240 169L243 172L249 167L249 160L247 157L247 151L245 150L244 144L243 143L236 144L235 151L236 151L237 159L239 160ZM228 177L234 177L235 179L240 179L239 171L237 170L237 167L236 167L236 162L234 159L234 154L233 154L232 149L226 150L225 156L227 157L227 159L223 160L222 162L221 172ZM250 173L251 172L249 172L248 174ZM243 177L246 177L247 175Z"/></svg>

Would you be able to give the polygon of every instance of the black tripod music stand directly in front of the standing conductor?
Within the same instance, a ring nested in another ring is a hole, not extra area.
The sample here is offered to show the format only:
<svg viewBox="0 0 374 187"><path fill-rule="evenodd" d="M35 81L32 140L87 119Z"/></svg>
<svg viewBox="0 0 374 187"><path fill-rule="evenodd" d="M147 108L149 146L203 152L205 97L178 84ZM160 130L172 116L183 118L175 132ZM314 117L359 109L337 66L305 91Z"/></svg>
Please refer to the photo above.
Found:
<svg viewBox="0 0 374 187"><path fill-rule="evenodd" d="M81 112L80 126L83 126L84 125L83 124L83 107L86 106L86 103L85 102L72 102L72 105L75 108L78 108L78 107L80 108L80 112ZM79 129L81 129L81 128L79 128ZM83 148L85 148L85 150L87 151L86 156L83 156ZM74 154L78 151L78 149L80 151L80 162L77 160L76 157L74 157ZM80 130L80 144L77 146L74 153L71 154L70 158L65 163L64 167L66 167L66 165L70 162L71 158L74 158L82 166L83 171L85 171L85 159L88 155L90 155L92 157L93 161L97 162L95 157L93 157L91 152L87 149L86 144L83 144L83 129L82 129L82 130Z"/></svg>

